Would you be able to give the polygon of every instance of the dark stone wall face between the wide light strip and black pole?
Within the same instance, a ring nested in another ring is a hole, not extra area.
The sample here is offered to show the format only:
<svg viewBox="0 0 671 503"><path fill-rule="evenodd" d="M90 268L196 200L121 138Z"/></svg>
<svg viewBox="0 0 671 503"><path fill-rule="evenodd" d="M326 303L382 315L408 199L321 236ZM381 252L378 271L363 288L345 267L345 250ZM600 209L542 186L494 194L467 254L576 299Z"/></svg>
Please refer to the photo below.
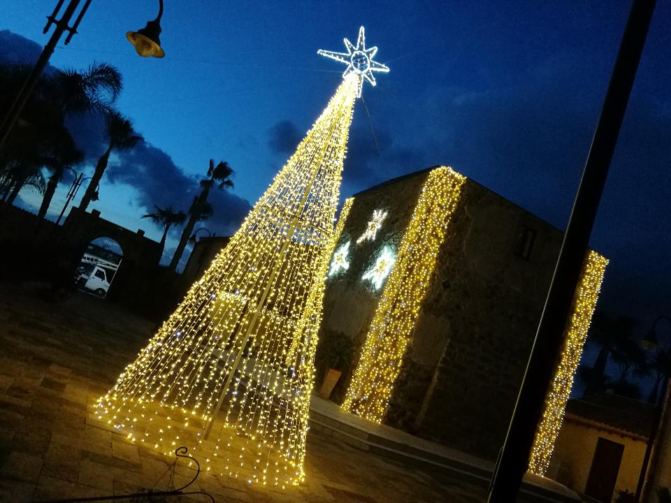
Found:
<svg viewBox="0 0 671 503"><path fill-rule="evenodd" d="M516 254L525 226L536 233L528 258ZM448 235L414 335L414 360L439 358L415 428L496 459L562 233L468 180Z"/></svg>

